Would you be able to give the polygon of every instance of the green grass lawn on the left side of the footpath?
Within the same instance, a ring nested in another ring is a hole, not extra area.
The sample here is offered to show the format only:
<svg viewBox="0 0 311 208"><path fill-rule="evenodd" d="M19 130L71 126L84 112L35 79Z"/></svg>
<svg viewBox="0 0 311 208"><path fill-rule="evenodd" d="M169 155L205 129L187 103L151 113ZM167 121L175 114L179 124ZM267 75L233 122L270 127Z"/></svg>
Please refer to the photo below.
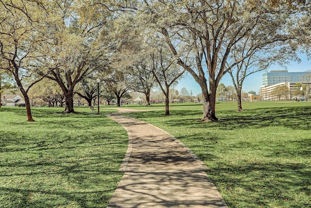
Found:
<svg viewBox="0 0 311 208"><path fill-rule="evenodd" d="M121 180L127 133L114 121L60 108L0 108L1 208L103 208ZM111 112L111 111L110 111Z"/></svg>

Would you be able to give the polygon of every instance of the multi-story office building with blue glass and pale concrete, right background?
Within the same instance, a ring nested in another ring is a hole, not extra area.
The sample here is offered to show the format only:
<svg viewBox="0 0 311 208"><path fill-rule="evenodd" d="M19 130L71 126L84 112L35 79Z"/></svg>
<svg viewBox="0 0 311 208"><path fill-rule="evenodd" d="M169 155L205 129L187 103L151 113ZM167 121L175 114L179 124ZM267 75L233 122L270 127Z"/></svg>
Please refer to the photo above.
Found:
<svg viewBox="0 0 311 208"><path fill-rule="evenodd" d="M294 99L293 95L295 89L295 84L301 83L302 85L307 85L307 90L309 91L309 84L311 83L311 77L308 76L306 72L288 72L287 70L281 71L270 71L262 75L262 84L260 87L260 97L263 101L277 100L276 95L274 95L274 89L277 86L285 85L289 88L289 94L283 99L289 100ZM306 90L306 91L307 91ZM306 96L309 92L305 92Z"/></svg>

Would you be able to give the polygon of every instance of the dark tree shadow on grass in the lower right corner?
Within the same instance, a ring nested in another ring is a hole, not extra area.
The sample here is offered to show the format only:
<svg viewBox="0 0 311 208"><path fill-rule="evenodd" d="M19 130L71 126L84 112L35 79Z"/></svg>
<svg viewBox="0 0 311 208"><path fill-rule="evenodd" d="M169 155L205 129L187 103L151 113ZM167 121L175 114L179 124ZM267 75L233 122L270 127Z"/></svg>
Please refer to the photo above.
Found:
<svg viewBox="0 0 311 208"><path fill-rule="evenodd" d="M207 175L232 208L311 206L310 164L220 162Z"/></svg>

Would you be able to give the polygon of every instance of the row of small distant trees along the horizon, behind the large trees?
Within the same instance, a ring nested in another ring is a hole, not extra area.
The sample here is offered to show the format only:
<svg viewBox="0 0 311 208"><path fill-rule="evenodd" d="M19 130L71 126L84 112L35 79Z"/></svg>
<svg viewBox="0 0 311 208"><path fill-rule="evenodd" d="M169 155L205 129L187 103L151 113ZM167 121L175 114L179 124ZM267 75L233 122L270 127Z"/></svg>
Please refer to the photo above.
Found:
<svg viewBox="0 0 311 208"><path fill-rule="evenodd" d="M100 87L100 99L104 100L107 105L112 104L112 101L116 100L116 96L113 92L109 92L104 90L105 86ZM46 89L44 89L46 88ZM36 88L33 88L36 89ZM81 88L78 88L81 90L80 92L76 91L74 94L74 100L76 105L80 106L81 100L84 98L84 100L87 102L88 106L96 105L97 104L97 87L94 87L89 89L87 86L81 86ZM297 99L301 98L302 96L305 97L307 100L309 100L310 94L309 94L309 87L308 85L303 85L301 83L296 83L293 87L293 90L291 92L291 95L296 97ZM4 93L16 93L17 88L14 87L11 84L5 84L3 85L2 92ZM121 104L133 102L133 100L141 96L141 93L134 93L135 91L129 91L127 96L123 96L121 98ZM286 100L289 98L290 90L287 86L277 86L273 92L272 95L275 96L275 100ZM150 103L162 103L165 101L163 93L157 90L152 90L150 98ZM63 107L65 104L64 102L64 95L61 94L60 89L54 89L52 90L51 86L40 86L40 90L34 92L30 92L30 96L32 98L31 102L32 105L38 100L42 99L50 107L56 107L60 106ZM228 85L225 86L225 84L220 84L217 89L217 98L218 100L225 100L225 101L237 101L237 94L233 86ZM198 95L192 95L192 92L189 92L187 88L182 88L180 91L172 88L170 89L170 101L178 99L180 102L201 102L202 100L202 94ZM243 101L249 101L249 95L246 92L242 92L242 100ZM85 103L84 101L84 103ZM36 104L36 103L35 103Z"/></svg>

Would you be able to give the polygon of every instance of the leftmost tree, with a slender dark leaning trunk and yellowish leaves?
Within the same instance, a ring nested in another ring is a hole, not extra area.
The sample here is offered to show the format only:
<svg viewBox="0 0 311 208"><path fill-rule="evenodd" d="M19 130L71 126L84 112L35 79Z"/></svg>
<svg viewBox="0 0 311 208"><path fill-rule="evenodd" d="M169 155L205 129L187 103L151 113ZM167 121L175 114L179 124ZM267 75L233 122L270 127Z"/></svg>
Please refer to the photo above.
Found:
<svg viewBox="0 0 311 208"><path fill-rule="evenodd" d="M0 69L14 76L25 99L27 121L35 121L27 93L45 76L36 75L37 59L43 56L38 52L40 44L47 39L41 16L39 2L0 0Z"/></svg>

